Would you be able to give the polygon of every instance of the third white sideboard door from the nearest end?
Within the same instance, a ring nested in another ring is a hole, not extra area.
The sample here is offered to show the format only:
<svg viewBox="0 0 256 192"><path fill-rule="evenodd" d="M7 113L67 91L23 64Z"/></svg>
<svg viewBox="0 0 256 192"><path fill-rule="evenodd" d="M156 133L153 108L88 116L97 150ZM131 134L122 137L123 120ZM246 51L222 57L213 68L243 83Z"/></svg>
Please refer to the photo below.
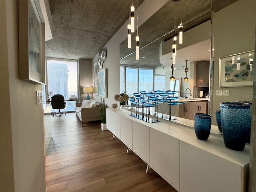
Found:
<svg viewBox="0 0 256 192"><path fill-rule="evenodd" d="M132 151L149 165L149 127L132 120Z"/></svg>

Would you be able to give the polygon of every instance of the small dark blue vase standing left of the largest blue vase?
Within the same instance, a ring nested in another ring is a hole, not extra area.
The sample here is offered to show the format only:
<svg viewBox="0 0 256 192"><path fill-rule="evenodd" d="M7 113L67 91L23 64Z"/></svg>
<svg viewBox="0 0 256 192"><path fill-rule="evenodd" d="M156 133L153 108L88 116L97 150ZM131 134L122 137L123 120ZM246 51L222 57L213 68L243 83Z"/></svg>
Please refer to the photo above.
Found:
<svg viewBox="0 0 256 192"><path fill-rule="evenodd" d="M200 140L207 140L211 131L212 117L209 114L196 113L194 128L196 137Z"/></svg>

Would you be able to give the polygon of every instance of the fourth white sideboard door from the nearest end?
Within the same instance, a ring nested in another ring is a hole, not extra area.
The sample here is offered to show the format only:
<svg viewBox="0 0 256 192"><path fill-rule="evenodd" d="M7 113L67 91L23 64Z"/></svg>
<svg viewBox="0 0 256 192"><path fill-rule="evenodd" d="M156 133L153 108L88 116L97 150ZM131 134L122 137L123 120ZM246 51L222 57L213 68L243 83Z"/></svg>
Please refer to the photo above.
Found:
<svg viewBox="0 0 256 192"><path fill-rule="evenodd" d="M132 120L120 116L120 140L132 150Z"/></svg>

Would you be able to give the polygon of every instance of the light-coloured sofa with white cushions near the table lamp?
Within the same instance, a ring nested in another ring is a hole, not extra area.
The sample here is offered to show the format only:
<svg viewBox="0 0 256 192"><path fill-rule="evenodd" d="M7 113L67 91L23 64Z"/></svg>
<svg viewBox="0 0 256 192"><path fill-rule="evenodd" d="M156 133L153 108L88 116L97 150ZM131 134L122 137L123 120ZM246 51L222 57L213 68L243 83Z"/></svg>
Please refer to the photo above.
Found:
<svg viewBox="0 0 256 192"><path fill-rule="evenodd" d="M76 116L82 122L98 121L100 119L101 104L93 99L83 100L81 103L76 103Z"/></svg>

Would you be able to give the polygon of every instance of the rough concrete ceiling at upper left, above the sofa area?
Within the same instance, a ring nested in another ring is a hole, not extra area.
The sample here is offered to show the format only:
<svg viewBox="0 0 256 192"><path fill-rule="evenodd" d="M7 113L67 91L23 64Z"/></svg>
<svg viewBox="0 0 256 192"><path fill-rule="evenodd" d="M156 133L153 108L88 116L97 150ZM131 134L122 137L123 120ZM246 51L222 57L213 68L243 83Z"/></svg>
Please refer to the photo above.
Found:
<svg viewBox="0 0 256 192"><path fill-rule="evenodd" d="M52 40L46 56L92 59L128 20L129 7L143 0L49 0Z"/></svg>

